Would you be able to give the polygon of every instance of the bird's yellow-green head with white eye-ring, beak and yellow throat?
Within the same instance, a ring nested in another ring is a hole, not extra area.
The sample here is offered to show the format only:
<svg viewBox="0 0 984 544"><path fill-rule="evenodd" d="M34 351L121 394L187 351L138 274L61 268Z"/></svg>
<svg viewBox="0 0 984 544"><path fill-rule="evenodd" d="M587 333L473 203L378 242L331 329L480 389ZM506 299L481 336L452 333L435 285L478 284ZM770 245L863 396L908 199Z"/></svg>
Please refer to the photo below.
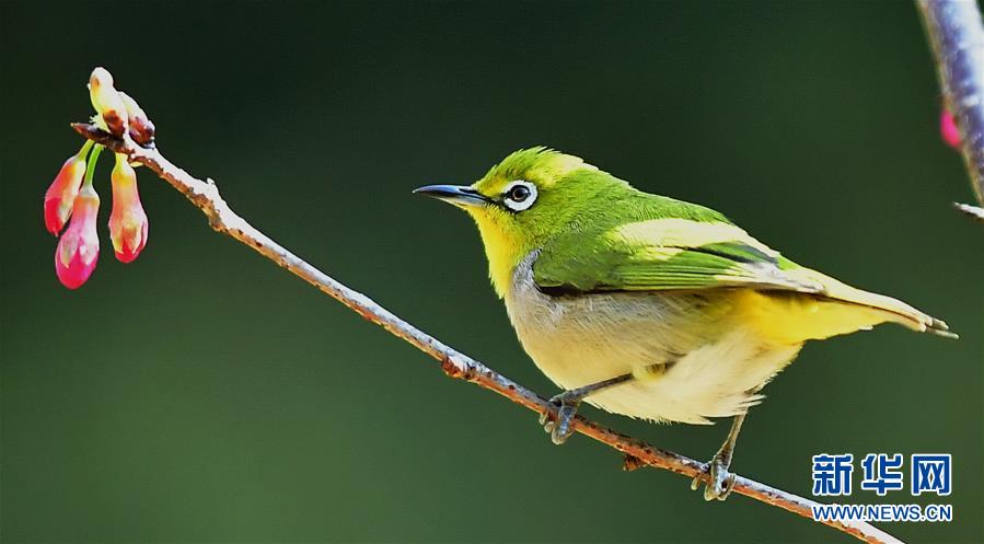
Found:
<svg viewBox="0 0 984 544"><path fill-rule="evenodd" d="M478 223L489 276L503 297L512 271L551 238L606 215L628 184L581 159L546 148L517 151L472 185L414 190L465 210ZM632 189L628 189L632 190Z"/></svg>

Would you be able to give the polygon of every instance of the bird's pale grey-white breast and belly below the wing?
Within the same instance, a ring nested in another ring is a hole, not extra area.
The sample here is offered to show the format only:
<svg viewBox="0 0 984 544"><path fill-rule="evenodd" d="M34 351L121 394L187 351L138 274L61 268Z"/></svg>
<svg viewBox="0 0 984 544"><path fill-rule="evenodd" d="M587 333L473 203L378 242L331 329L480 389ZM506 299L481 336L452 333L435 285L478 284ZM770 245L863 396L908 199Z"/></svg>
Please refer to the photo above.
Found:
<svg viewBox="0 0 984 544"><path fill-rule="evenodd" d="M533 281L531 253L506 293L523 348L557 385L574 389L664 366L588 398L633 417L693 424L743 413L799 350L771 346L740 321L733 290L547 296Z"/></svg>

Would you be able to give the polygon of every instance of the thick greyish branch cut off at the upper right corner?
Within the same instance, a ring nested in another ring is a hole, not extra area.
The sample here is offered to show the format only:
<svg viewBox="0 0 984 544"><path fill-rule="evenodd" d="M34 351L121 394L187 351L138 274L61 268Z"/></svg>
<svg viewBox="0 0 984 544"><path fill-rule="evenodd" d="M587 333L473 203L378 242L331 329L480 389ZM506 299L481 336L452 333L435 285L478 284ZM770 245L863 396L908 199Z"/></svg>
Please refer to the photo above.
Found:
<svg viewBox="0 0 984 544"><path fill-rule="evenodd" d="M960 150L977 206L956 204L984 222L984 26L976 0L916 0L947 109L960 128Z"/></svg>

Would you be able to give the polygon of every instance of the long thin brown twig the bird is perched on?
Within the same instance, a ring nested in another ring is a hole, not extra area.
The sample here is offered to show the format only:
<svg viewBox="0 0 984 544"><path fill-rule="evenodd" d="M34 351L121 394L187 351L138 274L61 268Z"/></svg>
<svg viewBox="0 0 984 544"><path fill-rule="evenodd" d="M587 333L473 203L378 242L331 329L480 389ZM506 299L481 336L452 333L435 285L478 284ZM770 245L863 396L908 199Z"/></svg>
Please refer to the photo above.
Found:
<svg viewBox="0 0 984 544"><path fill-rule="evenodd" d="M77 123L72 127L85 138L102 143L117 153L126 153L131 162L139 162L154 171L161 178L188 197L192 204L201 209L208 217L212 229L248 245L261 255L287 268L325 294L338 300L366 320L380 325L391 334L403 338L417 349L433 357L440 361L441 369L449 377L459 378L475 383L481 387L495 391L516 404L540 414L547 414L548 417L556 419L557 407L547 400L499 374L482 362L442 344L437 338L377 304L364 294L328 277L254 229L243 218L232 211L219 195L219 189L211 180L201 181L193 177L171 163L158 150L141 148L130 140L129 137L125 137L125 140L119 140L88 124ZM704 472L705 463L649 445L581 416L577 416L574 428L578 432L611 445L625 454L624 466L626 470L649 465L672 471L691 478L696 476L706 478ZM820 506L819 502L741 476L736 476L734 493L809 519L813 519L811 507ZM822 523L849 533L864 542L900 543L892 535L865 522L823 521Z"/></svg>

